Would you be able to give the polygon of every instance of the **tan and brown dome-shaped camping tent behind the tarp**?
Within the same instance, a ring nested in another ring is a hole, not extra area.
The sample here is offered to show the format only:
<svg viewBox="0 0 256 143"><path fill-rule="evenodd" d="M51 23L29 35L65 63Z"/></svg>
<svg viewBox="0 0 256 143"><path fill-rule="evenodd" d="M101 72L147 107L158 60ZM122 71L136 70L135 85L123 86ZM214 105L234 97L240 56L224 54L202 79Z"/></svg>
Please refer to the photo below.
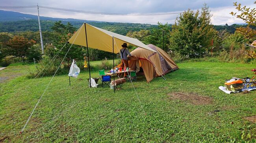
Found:
<svg viewBox="0 0 256 143"><path fill-rule="evenodd" d="M149 82L155 76L161 76L178 69L176 63L165 51L152 44L147 46L157 52L138 47L131 52L132 56L128 57L129 68L135 70L137 75L145 75L147 82Z"/></svg>

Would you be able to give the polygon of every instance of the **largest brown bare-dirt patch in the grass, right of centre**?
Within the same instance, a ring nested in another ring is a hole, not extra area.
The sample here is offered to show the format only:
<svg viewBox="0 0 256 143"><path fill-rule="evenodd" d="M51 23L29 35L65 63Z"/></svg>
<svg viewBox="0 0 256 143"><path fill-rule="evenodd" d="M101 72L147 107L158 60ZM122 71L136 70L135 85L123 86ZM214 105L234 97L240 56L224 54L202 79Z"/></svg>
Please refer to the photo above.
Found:
<svg viewBox="0 0 256 143"><path fill-rule="evenodd" d="M193 105L208 105L213 103L213 99L207 96L199 96L195 93L173 92L168 94L170 100L188 101Z"/></svg>

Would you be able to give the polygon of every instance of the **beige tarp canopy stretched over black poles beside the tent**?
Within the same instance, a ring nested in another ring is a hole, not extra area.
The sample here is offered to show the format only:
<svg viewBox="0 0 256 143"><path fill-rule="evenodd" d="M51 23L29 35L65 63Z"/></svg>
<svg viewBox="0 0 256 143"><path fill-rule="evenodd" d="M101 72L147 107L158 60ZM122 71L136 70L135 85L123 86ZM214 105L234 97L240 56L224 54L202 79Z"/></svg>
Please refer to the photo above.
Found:
<svg viewBox="0 0 256 143"><path fill-rule="evenodd" d="M87 37L85 36L85 29ZM87 47L86 38L88 47L102 51L113 52L114 50L114 53L119 53L120 49L122 48L121 45L123 43L127 43L128 45L132 44L137 47L156 52L135 38L126 37L117 33L100 29L87 23L84 23L78 29L78 31L76 31L76 33L69 39L69 43Z"/></svg>

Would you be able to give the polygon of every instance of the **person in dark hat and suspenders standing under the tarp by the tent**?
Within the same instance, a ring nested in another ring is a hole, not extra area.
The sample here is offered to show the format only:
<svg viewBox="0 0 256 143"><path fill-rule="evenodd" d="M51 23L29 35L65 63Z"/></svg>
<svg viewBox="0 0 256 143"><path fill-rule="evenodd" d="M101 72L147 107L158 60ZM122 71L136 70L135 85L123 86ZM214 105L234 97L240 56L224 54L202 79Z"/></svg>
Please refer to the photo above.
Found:
<svg viewBox="0 0 256 143"><path fill-rule="evenodd" d="M123 43L122 44L122 49L120 50L120 55L121 55L121 67L122 67L122 69L126 69L126 67L129 67L128 66L128 58L127 58L127 56L129 55L129 56L132 56L131 54L130 54L130 52L128 51L128 49L126 49L127 48L127 43ZM124 78L126 78L127 76L126 76L126 72L124 72Z"/></svg>

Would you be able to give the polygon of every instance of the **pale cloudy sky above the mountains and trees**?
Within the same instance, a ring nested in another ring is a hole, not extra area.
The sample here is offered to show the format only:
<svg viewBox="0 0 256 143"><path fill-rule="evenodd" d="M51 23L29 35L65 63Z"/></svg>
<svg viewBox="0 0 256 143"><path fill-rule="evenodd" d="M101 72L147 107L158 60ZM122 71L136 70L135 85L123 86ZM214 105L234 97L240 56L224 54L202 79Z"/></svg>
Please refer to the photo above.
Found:
<svg viewBox="0 0 256 143"><path fill-rule="evenodd" d="M212 24L234 24L244 23L238 18L232 18L229 14L236 11L233 6L234 0L0 0L1 6L23 6L23 5L42 5L47 7L59 7L64 9L75 9L83 11L95 11L104 13L128 13L128 14L145 14L145 13L175 13L187 9L197 10L204 3L208 4L213 17ZM247 7L256 7L254 0L240 0L242 5ZM17 11L20 13L37 14L36 8L27 9L3 9L7 11ZM85 14L69 11L58 11L51 9L39 9L41 16L56 18L76 18L82 20L97 20L107 22L132 22L144 24L170 23L173 24L178 14L169 14L161 16L116 16ZM228 16L223 18L221 16Z"/></svg>

